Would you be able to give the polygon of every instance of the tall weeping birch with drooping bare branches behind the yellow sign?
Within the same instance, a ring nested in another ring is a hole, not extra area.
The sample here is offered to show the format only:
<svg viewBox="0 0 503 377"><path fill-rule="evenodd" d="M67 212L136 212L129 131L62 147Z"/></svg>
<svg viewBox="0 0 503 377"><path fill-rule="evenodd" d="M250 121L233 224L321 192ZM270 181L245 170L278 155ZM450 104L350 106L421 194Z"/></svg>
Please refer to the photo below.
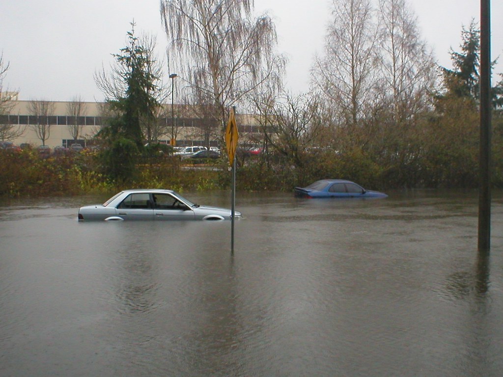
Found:
<svg viewBox="0 0 503 377"><path fill-rule="evenodd" d="M225 111L262 84L280 85L284 60L275 55L271 18L251 15L253 0L161 0L170 58L194 105Z"/></svg>

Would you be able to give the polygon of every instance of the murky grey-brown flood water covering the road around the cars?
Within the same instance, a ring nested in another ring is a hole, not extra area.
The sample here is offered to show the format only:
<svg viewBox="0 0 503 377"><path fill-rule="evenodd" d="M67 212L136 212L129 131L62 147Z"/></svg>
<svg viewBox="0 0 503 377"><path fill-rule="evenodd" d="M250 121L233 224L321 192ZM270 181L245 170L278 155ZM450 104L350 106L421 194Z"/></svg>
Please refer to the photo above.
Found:
<svg viewBox="0 0 503 377"><path fill-rule="evenodd" d="M230 222L79 223L0 204L0 375L499 376L503 195L241 194ZM184 193L230 208L230 193Z"/></svg>

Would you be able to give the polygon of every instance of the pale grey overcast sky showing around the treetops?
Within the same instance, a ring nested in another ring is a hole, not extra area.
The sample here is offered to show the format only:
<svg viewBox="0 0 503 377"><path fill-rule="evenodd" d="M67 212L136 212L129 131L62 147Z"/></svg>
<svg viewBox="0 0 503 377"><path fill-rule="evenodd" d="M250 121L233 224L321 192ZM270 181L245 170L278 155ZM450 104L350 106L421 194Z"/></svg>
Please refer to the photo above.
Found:
<svg viewBox="0 0 503 377"><path fill-rule="evenodd" d="M377 0L374 0L376 2ZM309 4L309 5L306 5ZM255 0L257 14L268 12L275 21L278 52L289 58L286 85L293 92L308 89L313 56L323 52L331 0ZM461 27L480 18L478 0L408 0L417 16L422 39L439 64L451 67L449 51L459 51ZM164 55L166 37L159 0L2 0L0 52L10 63L4 90L19 90L20 100L102 101L94 73L108 68L126 45L134 19L136 34L157 37ZM500 57L503 72L503 2L491 2L492 59ZM166 68L166 76L170 72ZM493 83L500 77L493 77ZM167 79L166 77L166 80Z"/></svg>

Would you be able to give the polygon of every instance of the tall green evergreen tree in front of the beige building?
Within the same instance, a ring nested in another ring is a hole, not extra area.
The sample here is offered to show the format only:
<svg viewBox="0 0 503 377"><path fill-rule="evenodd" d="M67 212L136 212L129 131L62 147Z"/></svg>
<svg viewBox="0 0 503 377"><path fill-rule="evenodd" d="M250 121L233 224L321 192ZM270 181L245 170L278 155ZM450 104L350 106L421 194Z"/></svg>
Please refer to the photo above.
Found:
<svg viewBox="0 0 503 377"><path fill-rule="evenodd" d="M128 181L134 176L139 151L143 148L142 122L155 120L160 106L157 95L162 88L159 71L153 70L152 51L145 48L134 35L134 26L127 33L128 45L120 54L113 54L117 65L111 77L106 73L95 76L107 103L116 114L99 137L105 147L102 153L106 173L116 181Z"/></svg>

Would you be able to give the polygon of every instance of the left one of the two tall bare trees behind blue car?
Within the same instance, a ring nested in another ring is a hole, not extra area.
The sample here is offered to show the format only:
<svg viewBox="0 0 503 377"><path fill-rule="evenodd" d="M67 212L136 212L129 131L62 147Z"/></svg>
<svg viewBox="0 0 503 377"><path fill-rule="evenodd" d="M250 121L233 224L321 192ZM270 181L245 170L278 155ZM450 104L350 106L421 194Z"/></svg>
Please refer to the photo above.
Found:
<svg viewBox="0 0 503 377"><path fill-rule="evenodd" d="M378 28L370 0L333 0L332 17L325 56L313 68L314 84L341 122L354 127L374 96Z"/></svg>

